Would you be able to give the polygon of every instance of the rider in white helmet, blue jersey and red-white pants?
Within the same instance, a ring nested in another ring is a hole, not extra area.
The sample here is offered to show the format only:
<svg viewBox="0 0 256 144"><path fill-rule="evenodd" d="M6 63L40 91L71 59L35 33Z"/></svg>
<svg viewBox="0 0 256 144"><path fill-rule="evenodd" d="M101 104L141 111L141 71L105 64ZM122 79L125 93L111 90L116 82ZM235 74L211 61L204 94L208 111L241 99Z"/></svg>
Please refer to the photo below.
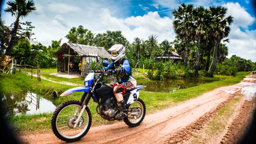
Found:
<svg viewBox="0 0 256 144"><path fill-rule="evenodd" d="M108 51L111 52L111 59L113 62L110 63L108 67L96 69L94 72L99 73L108 71L110 74L119 75L120 81L109 86L113 88L113 92L120 109L120 112L118 115L116 115L116 118L123 118L127 115L123 94L135 89L137 82L132 76L129 60L123 58L125 56L124 46L121 44L115 44L110 49L108 49Z"/></svg>

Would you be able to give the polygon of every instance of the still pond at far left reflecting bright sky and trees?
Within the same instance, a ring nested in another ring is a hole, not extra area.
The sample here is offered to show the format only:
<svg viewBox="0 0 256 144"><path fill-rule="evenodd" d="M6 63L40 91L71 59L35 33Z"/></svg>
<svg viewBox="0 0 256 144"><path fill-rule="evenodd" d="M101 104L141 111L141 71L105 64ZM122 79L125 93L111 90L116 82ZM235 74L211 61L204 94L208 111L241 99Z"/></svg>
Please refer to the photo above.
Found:
<svg viewBox="0 0 256 144"><path fill-rule="evenodd" d="M4 115L36 115L50 113L56 109L51 101L30 91L8 91L1 92L1 95Z"/></svg>

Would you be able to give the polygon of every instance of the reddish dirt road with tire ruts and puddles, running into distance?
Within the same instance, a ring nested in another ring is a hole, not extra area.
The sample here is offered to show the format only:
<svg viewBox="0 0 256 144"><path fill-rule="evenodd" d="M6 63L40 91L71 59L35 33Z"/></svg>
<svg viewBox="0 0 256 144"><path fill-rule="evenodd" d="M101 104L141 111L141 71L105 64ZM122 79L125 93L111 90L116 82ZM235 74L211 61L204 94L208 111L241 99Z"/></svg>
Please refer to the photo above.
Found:
<svg viewBox="0 0 256 144"><path fill-rule="evenodd" d="M252 112L244 111L255 109L255 94L256 77L250 75L239 84L221 87L161 112L146 115L141 125L134 128L124 122L92 127L85 137L74 143L188 143L219 109L239 95L241 100L236 108L236 116L228 120L231 125L226 126L225 132L211 142L233 143L239 140L236 136L243 135L244 125L251 119ZM226 137L223 139L223 136ZM21 139L24 143L65 143L52 132L22 136Z"/></svg>

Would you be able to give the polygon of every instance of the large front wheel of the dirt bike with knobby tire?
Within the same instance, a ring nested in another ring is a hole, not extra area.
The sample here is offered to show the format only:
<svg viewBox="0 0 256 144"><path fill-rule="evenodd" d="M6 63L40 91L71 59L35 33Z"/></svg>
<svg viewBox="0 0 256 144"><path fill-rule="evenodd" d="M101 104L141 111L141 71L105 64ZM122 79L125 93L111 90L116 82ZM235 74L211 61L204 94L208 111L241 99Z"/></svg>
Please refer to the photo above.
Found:
<svg viewBox="0 0 256 144"><path fill-rule="evenodd" d="M78 111L81 106L82 103L80 101L70 100L59 105L54 111L51 118L51 128L60 140L66 142L78 141L89 131L92 115L88 107L84 110L77 127L73 128L73 122L81 112ZM77 115L76 111L78 111Z"/></svg>

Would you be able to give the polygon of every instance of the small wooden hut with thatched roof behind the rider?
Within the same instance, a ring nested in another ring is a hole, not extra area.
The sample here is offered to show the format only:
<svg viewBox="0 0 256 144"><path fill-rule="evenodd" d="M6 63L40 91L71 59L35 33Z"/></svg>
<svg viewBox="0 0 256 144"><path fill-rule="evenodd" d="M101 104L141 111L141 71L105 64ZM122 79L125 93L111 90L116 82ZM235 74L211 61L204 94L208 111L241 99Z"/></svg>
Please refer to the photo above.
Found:
<svg viewBox="0 0 256 144"><path fill-rule="evenodd" d="M103 47L64 43L54 53L58 56L57 72L68 71L70 61L74 64L74 71L79 71L78 64L82 60L82 72L91 68L91 63L101 63L101 59L111 59L111 55Z"/></svg>

